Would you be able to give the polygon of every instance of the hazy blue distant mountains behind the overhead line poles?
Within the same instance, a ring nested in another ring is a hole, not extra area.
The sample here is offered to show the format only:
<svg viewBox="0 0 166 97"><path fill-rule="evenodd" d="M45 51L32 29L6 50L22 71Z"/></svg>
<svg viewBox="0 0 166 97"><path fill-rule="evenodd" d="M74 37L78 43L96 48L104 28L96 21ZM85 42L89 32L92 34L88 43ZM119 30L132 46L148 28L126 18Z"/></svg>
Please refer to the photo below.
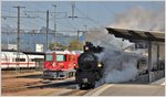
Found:
<svg viewBox="0 0 166 97"><path fill-rule="evenodd" d="M8 42L10 44L17 44L17 34L4 34L6 32L9 33L14 33L17 32L15 29L13 29L12 26L6 24L1 26L1 32L3 32L1 34L1 43L2 44L7 44ZM23 31L25 32L25 31ZM33 31L29 31L25 33L32 33ZM42 26L38 33L45 33L46 32L46 28ZM49 29L49 33L53 33L53 30ZM56 42L61 43L63 45L69 45L70 42L75 39L75 35L64 35L62 33L56 33ZM49 42L54 42L54 36L53 34L49 34L48 36ZM34 51L34 45L35 44L45 44L46 42L46 35L44 34L35 34L35 35L31 35L31 34L22 34L21 35L21 45L20 48L21 50L27 50L27 51Z"/></svg>

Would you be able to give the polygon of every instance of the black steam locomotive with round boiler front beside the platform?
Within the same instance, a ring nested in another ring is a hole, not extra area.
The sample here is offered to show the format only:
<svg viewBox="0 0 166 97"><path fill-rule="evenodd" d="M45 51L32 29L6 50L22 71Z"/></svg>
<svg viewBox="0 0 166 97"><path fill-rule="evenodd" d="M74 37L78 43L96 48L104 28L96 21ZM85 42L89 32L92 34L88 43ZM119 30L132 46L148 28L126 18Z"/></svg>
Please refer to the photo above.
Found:
<svg viewBox="0 0 166 97"><path fill-rule="evenodd" d="M86 42L84 45L84 53L79 57L79 68L75 74L75 80L80 89L94 88L95 82L102 77L104 65L98 63L94 53L101 53L103 50L104 47L94 46L91 42Z"/></svg>

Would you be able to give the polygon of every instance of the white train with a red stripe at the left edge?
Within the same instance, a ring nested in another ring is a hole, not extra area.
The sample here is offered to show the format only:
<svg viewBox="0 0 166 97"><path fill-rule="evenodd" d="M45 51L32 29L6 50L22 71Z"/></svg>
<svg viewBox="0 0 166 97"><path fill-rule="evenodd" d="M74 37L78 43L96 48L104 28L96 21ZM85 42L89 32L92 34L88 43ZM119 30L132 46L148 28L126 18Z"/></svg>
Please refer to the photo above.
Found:
<svg viewBox="0 0 166 97"><path fill-rule="evenodd" d="M44 55L24 54L20 52L20 58L18 58L17 54L17 52L1 52L1 69L35 68L39 66L39 63L44 61Z"/></svg>

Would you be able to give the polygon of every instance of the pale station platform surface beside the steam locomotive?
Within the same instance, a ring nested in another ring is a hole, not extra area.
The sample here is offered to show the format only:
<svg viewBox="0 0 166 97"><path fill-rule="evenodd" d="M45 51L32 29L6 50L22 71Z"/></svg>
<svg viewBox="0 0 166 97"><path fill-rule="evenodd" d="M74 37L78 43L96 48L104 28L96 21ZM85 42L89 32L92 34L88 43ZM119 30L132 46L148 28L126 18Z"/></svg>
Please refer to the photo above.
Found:
<svg viewBox="0 0 166 97"><path fill-rule="evenodd" d="M165 78L152 84L105 84L85 96L165 96Z"/></svg>

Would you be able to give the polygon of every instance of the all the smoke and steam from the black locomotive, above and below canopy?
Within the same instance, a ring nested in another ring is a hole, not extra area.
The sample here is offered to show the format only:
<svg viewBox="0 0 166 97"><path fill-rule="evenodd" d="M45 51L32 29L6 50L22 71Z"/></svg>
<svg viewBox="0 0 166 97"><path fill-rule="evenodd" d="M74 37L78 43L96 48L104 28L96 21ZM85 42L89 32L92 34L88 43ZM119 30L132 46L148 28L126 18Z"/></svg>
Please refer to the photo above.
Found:
<svg viewBox="0 0 166 97"><path fill-rule="evenodd" d="M108 26L165 32L165 9L163 7L159 10L149 11L136 7L116 14L114 22ZM107 34L103 28L92 29L86 33L86 40L105 47L103 53L96 54L100 62L104 64L104 76L97 85L127 82L137 75L136 64L139 55L121 51L131 45L128 41L122 42L122 39Z"/></svg>

